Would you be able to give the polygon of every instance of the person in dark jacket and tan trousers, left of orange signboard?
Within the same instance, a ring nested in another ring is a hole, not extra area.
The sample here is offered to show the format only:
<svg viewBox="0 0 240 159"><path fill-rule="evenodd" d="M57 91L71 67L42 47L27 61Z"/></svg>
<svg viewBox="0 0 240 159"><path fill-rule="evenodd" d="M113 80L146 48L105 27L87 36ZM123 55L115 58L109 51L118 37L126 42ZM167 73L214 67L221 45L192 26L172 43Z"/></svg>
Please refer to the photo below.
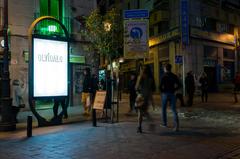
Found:
<svg viewBox="0 0 240 159"><path fill-rule="evenodd" d="M91 93L91 74L90 68L85 68L84 70L84 80L83 80L83 91L82 91L82 104L84 107L83 115L90 115L90 93Z"/></svg>

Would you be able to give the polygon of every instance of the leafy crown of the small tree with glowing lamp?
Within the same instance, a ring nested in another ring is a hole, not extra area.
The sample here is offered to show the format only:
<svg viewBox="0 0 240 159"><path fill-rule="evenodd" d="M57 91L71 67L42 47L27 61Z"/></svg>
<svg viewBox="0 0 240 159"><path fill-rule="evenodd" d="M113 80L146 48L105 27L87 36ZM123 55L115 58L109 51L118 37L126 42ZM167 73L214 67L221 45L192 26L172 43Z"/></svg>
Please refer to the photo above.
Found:
<svg viewBox="0 0 240 159"><path fill-rule="evenodd" d="M118 50L123 46L123 24L119 11L113 8L101 15L98 9L94 10L86 18L85 27L83 34L91 41L90 49L97 50L112 64L112 59L118 57Z"/></svg>

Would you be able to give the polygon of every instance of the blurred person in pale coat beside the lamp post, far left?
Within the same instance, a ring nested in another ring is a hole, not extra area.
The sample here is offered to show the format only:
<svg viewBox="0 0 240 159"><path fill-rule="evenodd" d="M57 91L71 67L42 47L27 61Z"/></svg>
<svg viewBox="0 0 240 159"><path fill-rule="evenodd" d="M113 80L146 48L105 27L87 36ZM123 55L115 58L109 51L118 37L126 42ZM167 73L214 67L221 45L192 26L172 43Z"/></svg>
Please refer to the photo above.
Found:
<svg viewBox="0 0 240 159"><path fill-rule="evenodd" d="M18 123L17 114L20 111L20 108L23 107L23 92L24 92L24 85L20 83L18 79L13 80L12 82L12 111L14 121Z"/></svg>

